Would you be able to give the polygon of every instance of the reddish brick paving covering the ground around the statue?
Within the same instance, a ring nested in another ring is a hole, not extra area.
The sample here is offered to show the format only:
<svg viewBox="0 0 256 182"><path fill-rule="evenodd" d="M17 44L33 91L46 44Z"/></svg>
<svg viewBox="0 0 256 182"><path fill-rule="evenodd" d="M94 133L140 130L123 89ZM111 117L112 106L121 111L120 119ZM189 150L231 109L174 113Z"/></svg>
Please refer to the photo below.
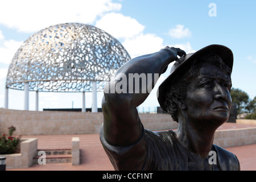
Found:
<svg viewBox="0 0 256 182"><path fill-rule="evenodd" d="M218 130L255 127L237 123L225 123ZM84 135L36 135L22 138L38 138L38 149L67 149L71 148L72 137L80 138L80 165L72 163L51 163L46 165L33 164L29 168L7 169L7 171L113 171L113 166L106 156L98 134ZM256 144L228 147L240 160L242 171L256 171Z"/></svg>

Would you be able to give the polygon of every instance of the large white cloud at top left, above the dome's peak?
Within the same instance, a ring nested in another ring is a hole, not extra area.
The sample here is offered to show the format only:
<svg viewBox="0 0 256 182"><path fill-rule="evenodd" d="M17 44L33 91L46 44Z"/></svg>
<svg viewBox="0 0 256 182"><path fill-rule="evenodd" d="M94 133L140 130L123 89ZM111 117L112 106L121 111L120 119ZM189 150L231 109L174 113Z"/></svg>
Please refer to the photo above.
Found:
<svg viewBox="0 0 256 182"><path fill-rule="evenodd" d="M31 33L59 23L93 23L98 15L120 9L112 0L1 1L0 23Z"/></svg>

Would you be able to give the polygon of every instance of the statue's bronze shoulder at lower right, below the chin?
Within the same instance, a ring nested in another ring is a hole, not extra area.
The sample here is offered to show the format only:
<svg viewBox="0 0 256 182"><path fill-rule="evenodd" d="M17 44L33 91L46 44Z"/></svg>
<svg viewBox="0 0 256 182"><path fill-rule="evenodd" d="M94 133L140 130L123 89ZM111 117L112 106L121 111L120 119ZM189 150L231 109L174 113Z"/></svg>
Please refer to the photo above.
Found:
<svg viewBox="0 0 256 182"><path fill-rule="evenodd" d="M220 146L213 144L217 152L217 160L223 171L239 171L240 163L237 156Z"/></svg>

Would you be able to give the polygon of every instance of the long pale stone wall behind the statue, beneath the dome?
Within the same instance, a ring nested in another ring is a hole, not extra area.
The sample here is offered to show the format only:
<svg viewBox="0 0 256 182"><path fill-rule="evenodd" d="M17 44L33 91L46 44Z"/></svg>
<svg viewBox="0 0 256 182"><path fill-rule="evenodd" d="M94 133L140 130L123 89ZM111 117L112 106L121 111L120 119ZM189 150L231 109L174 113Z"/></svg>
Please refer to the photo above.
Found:
<svg viewBox="0 0 256 182"><path fill-rule="evenodd" d="M177 123L169 114L139 114L145 129L175 129ZM102 113L69 111L24 111L0 109L0 134L16 127L15 135L97 134L103 122Z"/></svg>

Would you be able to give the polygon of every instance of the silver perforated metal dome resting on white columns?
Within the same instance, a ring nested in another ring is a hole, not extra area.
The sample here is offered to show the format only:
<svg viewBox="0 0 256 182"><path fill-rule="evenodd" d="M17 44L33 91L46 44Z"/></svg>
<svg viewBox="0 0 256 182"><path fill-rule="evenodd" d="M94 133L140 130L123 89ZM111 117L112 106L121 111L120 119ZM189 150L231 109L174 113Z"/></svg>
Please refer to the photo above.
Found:
<svg viewBox="0 0 256 182"><path fill-rule="evenodd" d="M15 53L6 77L6 87L39 92L98 91L130 60L129 53L112 35L81 23L64 23L30 36Z"/></svg>

